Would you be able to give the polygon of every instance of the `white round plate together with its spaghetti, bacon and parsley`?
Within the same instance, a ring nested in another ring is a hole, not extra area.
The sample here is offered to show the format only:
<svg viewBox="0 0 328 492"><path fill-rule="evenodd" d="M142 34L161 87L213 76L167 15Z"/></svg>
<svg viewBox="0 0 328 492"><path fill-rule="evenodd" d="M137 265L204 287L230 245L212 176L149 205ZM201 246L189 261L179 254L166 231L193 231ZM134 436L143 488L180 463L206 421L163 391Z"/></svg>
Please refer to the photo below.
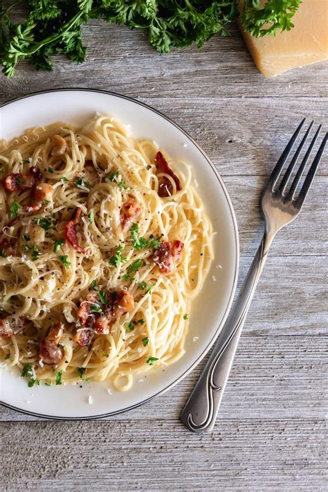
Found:
<svg viewBox="0 0 328 492"><path fill-rule="evenodd" d="M125 96L64 89L0 111L1 402L87 419L149 401L203 358L233 300L221 178Z"/></svg>

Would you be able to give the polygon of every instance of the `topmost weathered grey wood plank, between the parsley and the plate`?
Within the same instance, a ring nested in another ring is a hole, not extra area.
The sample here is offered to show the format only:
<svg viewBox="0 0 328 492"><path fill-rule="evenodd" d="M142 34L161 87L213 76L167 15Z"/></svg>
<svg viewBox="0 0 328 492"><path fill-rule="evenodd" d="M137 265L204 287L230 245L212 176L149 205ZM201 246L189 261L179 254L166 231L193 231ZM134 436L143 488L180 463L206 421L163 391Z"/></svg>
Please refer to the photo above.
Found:
<svg viewBox="0 0 328 492"><path fill-rule="evenodd" d="M276 78L257 71L239 34L213 37L201 51L194 46L159 55L142 32L93 21L84 28L89 46L82 65L57 58L53 73L22 63L12 80L0 78L7 98L55 87L97 87L142 98L327 96L328 63L313 64ZM1 94L1 91L0 91Z"/></svg>

